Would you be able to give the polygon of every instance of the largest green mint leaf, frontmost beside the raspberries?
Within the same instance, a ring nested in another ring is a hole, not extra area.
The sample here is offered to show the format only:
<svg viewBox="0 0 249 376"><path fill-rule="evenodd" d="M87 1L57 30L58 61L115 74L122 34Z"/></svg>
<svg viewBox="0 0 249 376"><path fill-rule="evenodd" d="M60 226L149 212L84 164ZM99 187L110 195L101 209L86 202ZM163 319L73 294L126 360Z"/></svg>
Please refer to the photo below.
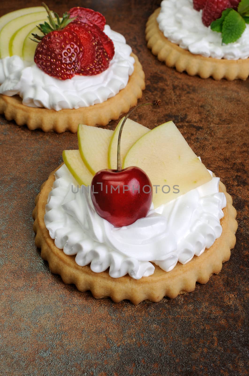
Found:
<svg viewBox="0 0 249 376"><path fill-rule="evenodd" d="M225 17L222 25L222 42L225 44L236 42L243 34L246 22L234 9Z"/></svg>

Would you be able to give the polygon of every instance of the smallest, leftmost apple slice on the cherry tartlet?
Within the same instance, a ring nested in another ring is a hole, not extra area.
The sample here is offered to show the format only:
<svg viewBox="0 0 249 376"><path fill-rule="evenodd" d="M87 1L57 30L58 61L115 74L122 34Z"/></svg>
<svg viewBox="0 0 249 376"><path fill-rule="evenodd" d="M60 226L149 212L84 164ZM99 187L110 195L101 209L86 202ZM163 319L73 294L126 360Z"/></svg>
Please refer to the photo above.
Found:
<svg viewBox="0 0 249 376"><path fill-rule="evenodd" d="M91 185L93 175L83 162L78 150L63 150L63 161L80 185Z"/></svg>

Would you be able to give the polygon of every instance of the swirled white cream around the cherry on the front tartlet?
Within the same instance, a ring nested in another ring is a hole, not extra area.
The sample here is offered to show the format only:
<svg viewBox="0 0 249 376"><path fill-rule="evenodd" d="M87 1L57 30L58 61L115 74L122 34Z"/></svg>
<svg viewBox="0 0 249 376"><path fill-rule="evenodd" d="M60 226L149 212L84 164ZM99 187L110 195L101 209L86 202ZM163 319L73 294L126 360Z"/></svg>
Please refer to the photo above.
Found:
<svg viewBox="0 0 249 376"><path fill-rule="evenodd" d="M211 171L210 171L211 174ZM220 218L226 206L219 178L189 191L130 226L116 228L101 218L89 188L78 188L65 165L55 173L44 217L50 237L78 265L91 264L98 273L108 267L111 277L129 274L134 279L154 272L154 265L172 270L199 256L220 237ZM81 189L82 188L82 189Z"/></svg>

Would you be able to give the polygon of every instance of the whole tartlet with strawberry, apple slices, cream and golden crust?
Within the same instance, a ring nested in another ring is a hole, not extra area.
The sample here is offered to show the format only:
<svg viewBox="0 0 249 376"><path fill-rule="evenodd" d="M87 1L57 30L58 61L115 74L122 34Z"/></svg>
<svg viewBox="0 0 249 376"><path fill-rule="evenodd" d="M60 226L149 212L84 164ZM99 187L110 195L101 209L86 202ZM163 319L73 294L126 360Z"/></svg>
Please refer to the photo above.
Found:
<svg viewBox="0 0 249 376"><path fill-rule="evenodd" d="M136 105L145 75L125 38L92 9L59 18L43 7L1 17L0 114L32 130L77 132Z"/></svg>

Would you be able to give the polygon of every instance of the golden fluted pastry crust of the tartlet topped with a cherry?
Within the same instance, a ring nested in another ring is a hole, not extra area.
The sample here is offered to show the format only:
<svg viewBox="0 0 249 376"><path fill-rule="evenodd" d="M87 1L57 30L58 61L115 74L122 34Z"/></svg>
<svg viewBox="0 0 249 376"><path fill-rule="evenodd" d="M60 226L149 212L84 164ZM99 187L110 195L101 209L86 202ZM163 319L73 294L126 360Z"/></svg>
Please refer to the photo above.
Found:
<svg viewBox="0 0 249 376"><path fill-rule="evenodd" d="M53 186L55 171L42 184L41 192L35 200L36 207L33 211L35 244L41 248L41 256L48 261L51 272L60 274L64 283L75 284L79 291L90 290L95 298L110 297L114 302L123 299L128 299L133 304L146 299L158 302L164 296L174 298L178 294L193 291L196 282L207 283L212 274L220 272L222 262L230 258L230 249L235 246L236 241L234 235L237 230L236 210L232 206L231 196L226 193L225 185L220 182L220 192L225 193L227 201L226 208L223 209L224 217L220 220L222 234L201 256L194 256L185 265L178 262L169 272L155 265L154 274L139 280L131 278L128 274L124 277L112 278L108 270L94 273L89 265L81 267L76 264L75 256L65 255L63 250L55 246L45 227L45 205Z"/></svg>

